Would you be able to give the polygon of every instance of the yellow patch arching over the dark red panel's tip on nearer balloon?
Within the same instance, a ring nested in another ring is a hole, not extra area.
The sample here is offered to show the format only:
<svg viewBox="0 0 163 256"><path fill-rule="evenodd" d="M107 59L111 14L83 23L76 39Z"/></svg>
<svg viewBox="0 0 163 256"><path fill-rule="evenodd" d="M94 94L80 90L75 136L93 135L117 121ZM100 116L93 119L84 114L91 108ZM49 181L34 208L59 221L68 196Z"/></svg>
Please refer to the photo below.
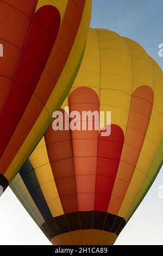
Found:
<svg viewBox="0 0 163 256"><path fill-rule="evenodd" d="M68 3L68 0L61 0L61 1L60 0L39 0L36 6L36 11L39 8L41 8L43 5L53 5L59 10L61 21L62 21L65 14L66 7L67 7L67 3Z"/></svg>

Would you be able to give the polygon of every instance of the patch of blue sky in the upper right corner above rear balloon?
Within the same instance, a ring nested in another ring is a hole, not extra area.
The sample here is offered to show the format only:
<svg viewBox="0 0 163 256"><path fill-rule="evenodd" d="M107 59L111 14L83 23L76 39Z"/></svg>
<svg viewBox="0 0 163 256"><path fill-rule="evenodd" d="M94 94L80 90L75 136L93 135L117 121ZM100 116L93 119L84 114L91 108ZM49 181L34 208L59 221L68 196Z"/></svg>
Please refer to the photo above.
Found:
<svg viewBox="0 0 163 256"><path fill-rule="evenodd" d="M139 42L163 69L163 57L158 56L162 11L162 0L93 0L91 27L108 28Z"/></svg>

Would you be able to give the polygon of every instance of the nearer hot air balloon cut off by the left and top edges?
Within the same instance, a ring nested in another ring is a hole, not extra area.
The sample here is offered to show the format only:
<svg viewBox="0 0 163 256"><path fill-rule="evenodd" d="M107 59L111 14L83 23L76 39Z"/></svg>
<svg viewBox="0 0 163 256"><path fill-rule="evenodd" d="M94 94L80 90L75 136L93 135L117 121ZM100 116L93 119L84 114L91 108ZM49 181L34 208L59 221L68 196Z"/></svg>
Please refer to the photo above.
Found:
<svg viewBox="0 0 163 256"><path fill-rule="evenodd" d="M0 188L39 143L81 64L91 1L0 1Z"/></svg>

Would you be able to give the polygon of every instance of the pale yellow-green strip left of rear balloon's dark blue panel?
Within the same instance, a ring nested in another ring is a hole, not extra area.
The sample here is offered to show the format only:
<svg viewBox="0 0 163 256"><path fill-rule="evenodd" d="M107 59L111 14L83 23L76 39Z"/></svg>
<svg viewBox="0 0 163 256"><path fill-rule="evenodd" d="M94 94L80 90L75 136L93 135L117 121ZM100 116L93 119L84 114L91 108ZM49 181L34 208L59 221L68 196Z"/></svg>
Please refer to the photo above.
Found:
<svg viewBox="0 0 163 256"><path fill-rule="evenodd" d="M41 226L45 222L45 220L43 220L43 217L40 214L40 211L37 209L37 206L35 205L33 198L30 196L29 191L27 190L27 187L24 184L19 173L16 175L14 180L12 180L12 185L14 185L14 189L16 190L18 195L22 198L24 203L26 203L29 211L32 212L37 222Z"/></svg>

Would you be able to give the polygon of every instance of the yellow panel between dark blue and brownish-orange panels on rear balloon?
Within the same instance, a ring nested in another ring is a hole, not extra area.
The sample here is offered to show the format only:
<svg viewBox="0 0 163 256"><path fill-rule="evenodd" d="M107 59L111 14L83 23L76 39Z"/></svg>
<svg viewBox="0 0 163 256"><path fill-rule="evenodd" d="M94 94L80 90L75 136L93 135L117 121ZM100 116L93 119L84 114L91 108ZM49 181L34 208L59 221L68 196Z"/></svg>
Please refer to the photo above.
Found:
<svg viewBox="0 0 163 256"><path fill-rule="evenodd" d="M34 168L41 191L52 216L56 217L64 214L57 187L55 185L51 164L49 163L44 138L41 139L37 148L33 151L32 155L30 155L29 161ZM57 202L57 204L54 204L53 202Z"/></svg>

